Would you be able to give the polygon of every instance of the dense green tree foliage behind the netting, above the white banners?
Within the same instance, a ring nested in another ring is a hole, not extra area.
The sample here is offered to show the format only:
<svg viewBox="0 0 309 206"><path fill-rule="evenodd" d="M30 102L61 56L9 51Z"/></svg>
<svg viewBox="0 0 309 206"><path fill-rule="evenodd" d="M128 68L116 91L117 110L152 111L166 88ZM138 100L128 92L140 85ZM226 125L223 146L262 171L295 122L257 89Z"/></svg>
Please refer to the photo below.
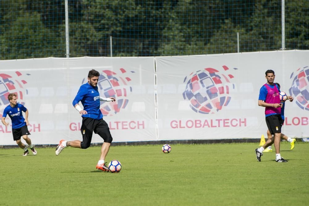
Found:
<svg viewBox="0 0 309 206"><path fill-rule="evenodd" d="M281 48L277 0L69 0L70 57ZM309 48L309 1L286 1L287 49ZM1 0L0 60L65 57L64 0Z"/></svg>

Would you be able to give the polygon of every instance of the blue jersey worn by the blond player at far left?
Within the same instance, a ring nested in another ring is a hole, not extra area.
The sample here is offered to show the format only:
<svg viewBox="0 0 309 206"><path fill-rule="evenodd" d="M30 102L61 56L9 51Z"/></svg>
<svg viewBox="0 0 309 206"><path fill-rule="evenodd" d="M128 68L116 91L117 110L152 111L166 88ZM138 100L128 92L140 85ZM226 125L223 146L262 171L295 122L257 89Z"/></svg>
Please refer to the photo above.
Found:
<svg viewBox="0 0 309 206"><path fill-rule="evenodd" d="M17 103L15 107L11 107L11 105L5 107L3 111L3 117L6 117L6 115L8 115L11 118L13 129L21 128L26 125L22 111L26 112L27 108L19 103Z"/></svg>

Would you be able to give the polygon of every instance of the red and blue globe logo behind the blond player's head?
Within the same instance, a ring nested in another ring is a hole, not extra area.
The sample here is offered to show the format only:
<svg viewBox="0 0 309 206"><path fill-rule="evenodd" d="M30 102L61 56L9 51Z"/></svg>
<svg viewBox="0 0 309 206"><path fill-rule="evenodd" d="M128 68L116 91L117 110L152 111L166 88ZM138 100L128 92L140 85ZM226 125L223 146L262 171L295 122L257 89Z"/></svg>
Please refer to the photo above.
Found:
<svg viewBox="0 0 309 206"><path fill-rule="evenodd" d="M26 74L30 75L30 74ZM16 71L14 75L10 74L0 74L0 117L3 115L4 108L10 104L7 96L10 93L17 95L19 104L25 104L23 102L24 95L28 94L28 90L24 87L27 84L24 80L25 76L19 71Z"/></svg>

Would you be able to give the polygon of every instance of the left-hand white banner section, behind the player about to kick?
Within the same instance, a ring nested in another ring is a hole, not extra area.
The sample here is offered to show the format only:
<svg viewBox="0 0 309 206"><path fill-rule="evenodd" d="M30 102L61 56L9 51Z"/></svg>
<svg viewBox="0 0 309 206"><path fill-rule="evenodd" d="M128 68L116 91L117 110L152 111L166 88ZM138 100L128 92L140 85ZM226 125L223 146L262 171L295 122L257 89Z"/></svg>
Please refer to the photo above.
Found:
<svg viewBox="0 0 309 206"><path fill-rule="evenodd" d="M82 140L82 117L72 105L89 70L100 72L100 110L113 141L156 140L154 57L79 57L0 61L0 117L9 105L7 95L29 111L29 136L33 144ZM81 105L81 103L80 103ZM25 116L25 114L23 113ZM0 125L0 145L14 145L11 119ZM92 143L103 142L94 134Z"/></svg>

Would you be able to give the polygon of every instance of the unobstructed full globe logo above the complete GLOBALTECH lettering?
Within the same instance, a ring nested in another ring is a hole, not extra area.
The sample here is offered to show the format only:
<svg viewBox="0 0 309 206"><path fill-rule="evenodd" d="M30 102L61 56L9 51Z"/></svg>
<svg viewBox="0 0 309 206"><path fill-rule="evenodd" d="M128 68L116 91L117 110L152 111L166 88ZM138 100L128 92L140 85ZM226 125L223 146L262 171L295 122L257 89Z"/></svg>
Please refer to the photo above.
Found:
<svg viewBox="0 0 309 206"><path fill-rule="evenodd" d="M224 71L229 70L227 66L222 67ZM232 78L233 75L220 73L214 68L191 73L184 78L187 85L183 97L190 101L191 109L197 113L216 113L231 101L230 90L235 89L235 84L230 82Z"/></svg>

